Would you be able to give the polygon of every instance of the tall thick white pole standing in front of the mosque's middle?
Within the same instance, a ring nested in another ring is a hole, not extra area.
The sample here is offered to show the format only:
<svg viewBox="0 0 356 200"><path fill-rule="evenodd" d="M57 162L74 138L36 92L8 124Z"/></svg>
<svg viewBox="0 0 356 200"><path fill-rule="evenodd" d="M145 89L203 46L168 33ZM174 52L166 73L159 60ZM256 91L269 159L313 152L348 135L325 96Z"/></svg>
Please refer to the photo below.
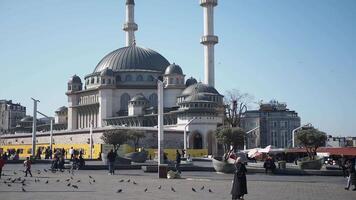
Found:
<svg viewBox="0 0 356 200"><path fill-rule="evenodd" d="M163 82L157 80L158 93L158 176L160 177L160 165L164 163L164 136L163 136Z"/></svg>

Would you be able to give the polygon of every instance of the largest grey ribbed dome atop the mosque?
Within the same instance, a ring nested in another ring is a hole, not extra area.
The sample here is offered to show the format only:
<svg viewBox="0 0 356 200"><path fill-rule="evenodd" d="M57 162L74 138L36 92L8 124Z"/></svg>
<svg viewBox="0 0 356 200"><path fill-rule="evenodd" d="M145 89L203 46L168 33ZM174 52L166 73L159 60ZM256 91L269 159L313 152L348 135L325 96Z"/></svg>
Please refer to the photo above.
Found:
<svg viewBox="0 0 356 200"><path fill-rule="evenodd" d="M112 69L114 72L125 70L154 70L164 72L169 65L167 59L151 49L131 45L117 49L106 55L95 67L95 72Z"/></svg>

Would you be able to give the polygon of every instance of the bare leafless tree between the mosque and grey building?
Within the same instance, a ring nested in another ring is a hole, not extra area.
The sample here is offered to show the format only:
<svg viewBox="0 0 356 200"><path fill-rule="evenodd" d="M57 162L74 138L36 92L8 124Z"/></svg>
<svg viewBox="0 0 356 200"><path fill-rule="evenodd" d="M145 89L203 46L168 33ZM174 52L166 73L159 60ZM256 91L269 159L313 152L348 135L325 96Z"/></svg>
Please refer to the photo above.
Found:
<svg viewBox="0 0 356 200"><path fill-rule="evenodd" d="M241 127L241 116L247 111L253 96L248 93L241 93L239 90L228 90L225 93L225 121L231 127Z"/></svg>

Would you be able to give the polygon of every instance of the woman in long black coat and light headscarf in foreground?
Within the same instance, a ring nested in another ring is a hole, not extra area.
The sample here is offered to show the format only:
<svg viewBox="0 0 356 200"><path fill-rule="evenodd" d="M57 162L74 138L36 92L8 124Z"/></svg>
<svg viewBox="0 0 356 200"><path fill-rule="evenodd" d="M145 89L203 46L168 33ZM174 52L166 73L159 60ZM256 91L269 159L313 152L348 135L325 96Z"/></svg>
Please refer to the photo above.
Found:
<svg viewBox="0 0 356 200"><path fill-rule="evenodd" d="M235 161L234 180L232 181L231 195L232 200L243 199L247 194L246 167L241 162L241 157L237 157Z"/></svg>

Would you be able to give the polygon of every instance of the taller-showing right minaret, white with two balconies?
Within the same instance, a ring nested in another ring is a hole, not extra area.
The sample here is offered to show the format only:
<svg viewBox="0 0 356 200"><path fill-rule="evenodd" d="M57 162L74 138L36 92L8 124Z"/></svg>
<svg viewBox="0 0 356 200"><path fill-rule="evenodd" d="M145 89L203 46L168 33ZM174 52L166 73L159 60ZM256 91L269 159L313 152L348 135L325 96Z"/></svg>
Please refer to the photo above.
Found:
<svg viewBox="0 0 356 200"><path fill-rule="evenodd" d="M214 35L214 7L218 0L200 0L200 6L204 9L204 35L200 43L204 45L204 83L213 86L214 79L214 45L218 43L218 37Z"/></svg>

